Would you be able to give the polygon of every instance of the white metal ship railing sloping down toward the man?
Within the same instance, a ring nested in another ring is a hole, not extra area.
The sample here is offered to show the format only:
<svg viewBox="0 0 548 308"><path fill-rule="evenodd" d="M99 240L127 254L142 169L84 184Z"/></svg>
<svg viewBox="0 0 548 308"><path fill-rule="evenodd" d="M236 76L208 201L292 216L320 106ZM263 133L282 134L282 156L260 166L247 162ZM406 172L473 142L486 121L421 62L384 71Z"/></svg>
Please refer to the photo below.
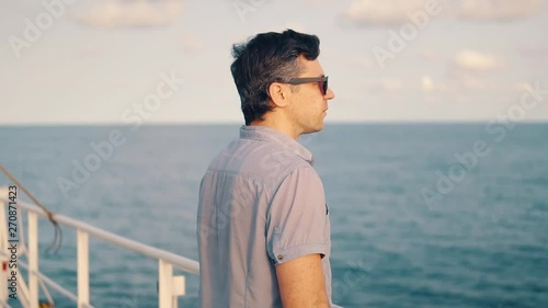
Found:
<svg viewBox="0 0 548 308"><path fill-rule="evenodd" d="M5 195L0 192L0 208L2 208L2 214L0 214L0 219L3 218L5 221L4 206L9 204L9 199ZM73 295L71 292L65 289L60 285L53 282L50 278L38 272L38 216L47 218L47 214L39 207L23 203L18 199L18 209L27 212L27 236L28 236L28 248L27 248L27 259L28 265L18 261L18 264L23 264L28 271L28 307L38 307L38 283L46 284L49 287L58 290L68 298L77 301L78 308L93 307L90 305L90 284L89 284L89 237L104 240L112 244L122 247L126 250L130 250L151 259L158 260L158 307L159 308L176 308L179 296L185 295L185 280L183 275L173 275L173 267L180 269L184 272L199 275L199 264L197 261L176 255L174 253L153 248L134 241L115 233L102 230L100 228L88 225L83 221L62 216L55 215L55 220L59 225L64 225L77 230L77 259L78 259L78 295ZM2 224L0 224L1 226ZM20 226L22 228L23 226ZM4 230L0 230L4 231ZM8 256L4 251L0 252ZM9 307L7 301L2 303L0 299L0 305L3 307ZM24 305L25 306L25 305ZM25 306L26 307L26 306Z"/></svg>

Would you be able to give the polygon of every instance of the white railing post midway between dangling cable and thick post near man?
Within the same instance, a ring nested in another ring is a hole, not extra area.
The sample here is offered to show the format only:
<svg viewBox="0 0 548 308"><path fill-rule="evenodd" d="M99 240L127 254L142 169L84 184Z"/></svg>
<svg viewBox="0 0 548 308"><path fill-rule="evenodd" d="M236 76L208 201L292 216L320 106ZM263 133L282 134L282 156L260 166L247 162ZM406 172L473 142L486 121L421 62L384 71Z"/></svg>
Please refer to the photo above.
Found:
<svg viewBox="0 0 548 308"><path fill-rule="evenodd" d="M78 229L78 308L90 304L90 260L88 232Z"/></svg>

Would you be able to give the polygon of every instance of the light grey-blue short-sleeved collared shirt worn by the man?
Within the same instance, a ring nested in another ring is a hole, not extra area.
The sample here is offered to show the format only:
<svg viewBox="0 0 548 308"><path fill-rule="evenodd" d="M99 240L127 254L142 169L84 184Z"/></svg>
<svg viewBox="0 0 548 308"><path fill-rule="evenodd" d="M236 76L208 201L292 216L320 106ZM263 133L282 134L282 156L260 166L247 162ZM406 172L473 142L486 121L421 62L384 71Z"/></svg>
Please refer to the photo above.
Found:
<svg viewBox="0 0 548 308"><path fill-rule="evenodd" d="M287 135L242 126L202 179L196 223L199 307L283 307L275 266L313 253L331 303L323 185L310 151Z"/></svg>

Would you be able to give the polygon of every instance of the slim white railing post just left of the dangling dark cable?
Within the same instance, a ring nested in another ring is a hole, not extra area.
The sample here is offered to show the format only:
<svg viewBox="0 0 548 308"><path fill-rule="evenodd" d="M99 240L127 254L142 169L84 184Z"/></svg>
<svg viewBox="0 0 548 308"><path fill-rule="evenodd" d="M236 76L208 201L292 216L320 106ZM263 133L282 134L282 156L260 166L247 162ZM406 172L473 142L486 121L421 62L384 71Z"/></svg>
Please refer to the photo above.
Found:
<svg viewBox="0 0 548 308"><path fill-rule="evenodd" d="M28 210L28 304L38 307L38 217Z"/></svg>

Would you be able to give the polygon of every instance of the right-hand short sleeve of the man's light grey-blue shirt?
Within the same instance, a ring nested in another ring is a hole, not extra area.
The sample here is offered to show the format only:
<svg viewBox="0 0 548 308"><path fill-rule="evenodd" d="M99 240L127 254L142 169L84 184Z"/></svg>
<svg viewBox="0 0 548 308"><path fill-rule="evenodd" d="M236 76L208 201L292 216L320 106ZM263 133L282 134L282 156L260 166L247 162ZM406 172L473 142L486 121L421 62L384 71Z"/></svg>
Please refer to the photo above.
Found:
<svg viewBox="0 0 548 308"><path fill-rule="evenodd" d="M299 256L329 254L329 217L321 179L297 168L274 192L267 213L266 250L273 265Z"/></svg>

